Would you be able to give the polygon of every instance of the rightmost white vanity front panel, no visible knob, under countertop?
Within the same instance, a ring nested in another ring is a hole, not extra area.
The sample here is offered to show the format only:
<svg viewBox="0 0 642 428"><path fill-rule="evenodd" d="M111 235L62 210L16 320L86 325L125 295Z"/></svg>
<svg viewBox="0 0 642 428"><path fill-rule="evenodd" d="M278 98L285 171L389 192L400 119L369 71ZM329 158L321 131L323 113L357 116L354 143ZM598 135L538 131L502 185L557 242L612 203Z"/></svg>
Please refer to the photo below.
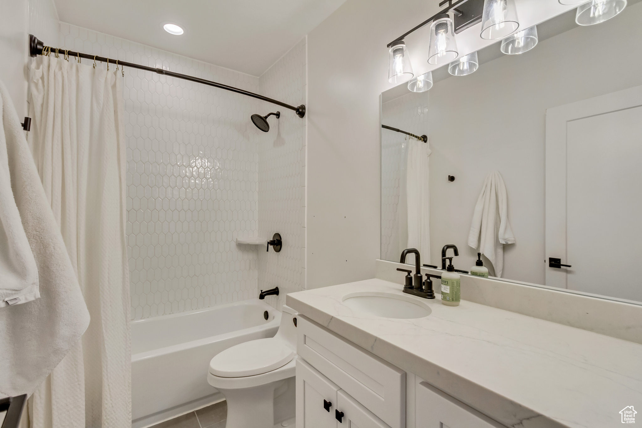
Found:
<svg viewBox="0 0 642 428"><path fill-rule="evenodd" d="M416 428L503 428L472 407L421 382L415 389Z"/></svg>

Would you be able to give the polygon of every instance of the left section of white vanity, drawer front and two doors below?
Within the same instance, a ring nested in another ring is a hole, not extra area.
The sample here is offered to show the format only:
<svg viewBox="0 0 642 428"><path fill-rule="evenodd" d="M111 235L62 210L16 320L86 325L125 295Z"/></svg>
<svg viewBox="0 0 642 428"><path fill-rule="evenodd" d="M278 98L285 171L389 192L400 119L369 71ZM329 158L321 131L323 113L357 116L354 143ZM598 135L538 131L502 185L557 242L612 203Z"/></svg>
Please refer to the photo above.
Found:
<svg viewBox="0 0 642 428"><path fill-rule="evenodd" d="M342 422L335 421L338 428L406 428L406 372L301 315L297 354L297 428L326 426L306 425L316 422L305 412L315 414L329 401L315 394L329 397L333 389L337 398L326 414L336 419L336 411L343 412ZM306 407L308 391L320 404Z"/></svg>

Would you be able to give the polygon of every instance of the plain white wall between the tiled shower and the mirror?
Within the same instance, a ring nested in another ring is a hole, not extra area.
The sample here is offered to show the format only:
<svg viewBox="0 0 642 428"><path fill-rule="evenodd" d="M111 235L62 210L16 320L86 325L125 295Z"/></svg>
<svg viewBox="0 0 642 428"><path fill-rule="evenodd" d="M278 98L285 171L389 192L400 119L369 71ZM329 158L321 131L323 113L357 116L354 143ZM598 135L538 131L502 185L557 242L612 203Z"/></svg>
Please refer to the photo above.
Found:
<svg viewBox="0 0 642 428"><path fill-rule="evenodd" d="M374 277L386 44L438 4L348 0L308 35L307 286Z"/></svg>

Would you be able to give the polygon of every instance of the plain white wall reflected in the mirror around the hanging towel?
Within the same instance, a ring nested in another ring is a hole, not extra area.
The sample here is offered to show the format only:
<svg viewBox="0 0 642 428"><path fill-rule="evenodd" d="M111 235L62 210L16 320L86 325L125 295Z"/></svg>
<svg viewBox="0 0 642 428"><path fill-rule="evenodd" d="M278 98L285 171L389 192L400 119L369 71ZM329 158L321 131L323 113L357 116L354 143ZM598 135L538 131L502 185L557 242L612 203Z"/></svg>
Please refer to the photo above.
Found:
<svg viewBox="0 0 642 428"><path fill-rule="evenodd" d="M517 241L505 246L503 277L544 284L546 108L641 85L641 19L642 3L634 4L611 21L574 28L524 55L501 56L470 76L401 98L406 122L417 120L417 104L429 106L433 264L444 244L456 244L456 266L473 266L467 236L474 204L485 176L497 169ZM399 99L386 105L392 103Z"/></svg>

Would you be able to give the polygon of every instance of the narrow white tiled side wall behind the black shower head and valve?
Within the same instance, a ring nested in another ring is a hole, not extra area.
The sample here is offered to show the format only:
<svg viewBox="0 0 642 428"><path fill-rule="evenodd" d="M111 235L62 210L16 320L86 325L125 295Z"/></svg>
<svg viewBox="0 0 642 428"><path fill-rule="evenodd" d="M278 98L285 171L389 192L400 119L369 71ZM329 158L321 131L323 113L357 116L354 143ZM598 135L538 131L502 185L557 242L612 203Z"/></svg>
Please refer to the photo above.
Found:
<svg viewBox="0 0 642 428"><path fill-rule="evenodd" d="M301 40L259 78L261 94L290 105L306 104L307 39ZM259 288L279 287L266 302L277 309L285 296L306 286L306 120L293 111L261 102L270 132L259 139L259 235L279 232L281 252L259 251Z"/></svg>

